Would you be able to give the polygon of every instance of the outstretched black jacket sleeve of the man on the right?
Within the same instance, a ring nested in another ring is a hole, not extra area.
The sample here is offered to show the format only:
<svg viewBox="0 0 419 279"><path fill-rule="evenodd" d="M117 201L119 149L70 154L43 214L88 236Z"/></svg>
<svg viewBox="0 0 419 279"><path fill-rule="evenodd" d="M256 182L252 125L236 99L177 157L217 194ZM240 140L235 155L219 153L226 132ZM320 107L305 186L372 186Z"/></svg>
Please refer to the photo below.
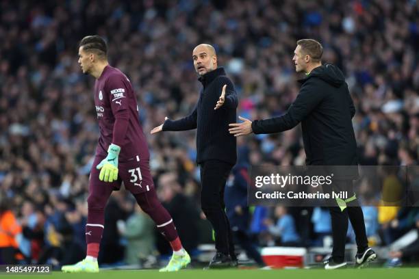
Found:
<svg viewBox="0 0 419 279"><path fill-rule="evenodd" d="M253 121L253 133L279 133L296 127L324 98L324 93L316 92L315 88L319 88L315 79L306 81L283 116Z"/></svg>

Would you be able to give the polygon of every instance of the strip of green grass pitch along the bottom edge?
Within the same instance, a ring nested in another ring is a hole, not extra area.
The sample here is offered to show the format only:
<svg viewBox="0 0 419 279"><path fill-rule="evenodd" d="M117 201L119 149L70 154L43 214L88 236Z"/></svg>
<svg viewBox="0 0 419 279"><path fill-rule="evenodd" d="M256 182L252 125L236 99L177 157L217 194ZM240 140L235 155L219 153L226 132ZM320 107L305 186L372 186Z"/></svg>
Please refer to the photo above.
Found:
<svg viewBox="0 0 419 279"><path fill-rule="evenodd" d="M1 275L0 274L0 278ZM368 269L276 269L276 270L257 270L257 269L229 269L229 270L201 270L187 269L175 273L159 273L157 270L113 270L101 271L99 274L62 274L53 272L52 275L43 276L10 276L9 278L76 278L76 279L361 279L361 278L417 278L419 276L419 267L416 268L368 268Z"/></svg>

